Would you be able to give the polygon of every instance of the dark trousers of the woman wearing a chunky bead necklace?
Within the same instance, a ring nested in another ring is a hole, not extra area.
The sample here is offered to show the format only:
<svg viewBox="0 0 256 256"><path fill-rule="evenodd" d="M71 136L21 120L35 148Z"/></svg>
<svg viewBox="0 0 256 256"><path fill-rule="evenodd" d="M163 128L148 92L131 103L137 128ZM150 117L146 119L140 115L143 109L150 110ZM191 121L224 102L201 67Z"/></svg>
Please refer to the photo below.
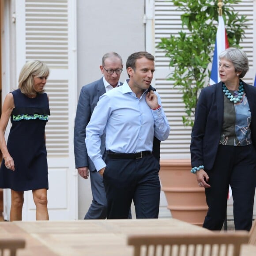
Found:
<svg viewBox="0 0 256 256"><path fill-rule="evenodd" d="M205 188L209 207L203 227L221 230L226 216L229 185L236 230L250 230L256 186L256 150L253 145L219 145L215 164L206 170L211 188Z"/></svg>

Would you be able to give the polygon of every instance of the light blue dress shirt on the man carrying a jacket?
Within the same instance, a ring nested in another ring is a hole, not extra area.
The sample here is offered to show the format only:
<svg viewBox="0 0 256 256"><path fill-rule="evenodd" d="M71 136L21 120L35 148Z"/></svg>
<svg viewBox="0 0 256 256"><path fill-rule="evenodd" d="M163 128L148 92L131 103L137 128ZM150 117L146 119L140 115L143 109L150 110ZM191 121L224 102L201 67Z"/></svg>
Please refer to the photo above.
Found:
<svg viewBox="0 0 256 256"><path fill-rule="evenodd" d="M137 98L128 81L100 97L86 127L87 153L98 171L106 166L100 151L104 133L106 150L117 153L152 151L154 136L159 140L169 136L170 127L162 107L152 110L146 102L147 90ZM159 94L154 93L161 105Z"/></svg>

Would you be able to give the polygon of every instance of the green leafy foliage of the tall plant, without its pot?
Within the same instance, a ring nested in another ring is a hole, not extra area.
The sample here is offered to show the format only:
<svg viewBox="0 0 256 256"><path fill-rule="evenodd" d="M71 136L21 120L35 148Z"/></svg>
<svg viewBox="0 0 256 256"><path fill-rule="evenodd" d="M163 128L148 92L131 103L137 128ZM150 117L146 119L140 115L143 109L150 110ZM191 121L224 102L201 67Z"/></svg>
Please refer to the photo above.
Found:
<svg viewBox="0 0 256 256"><path fill-rule="evenodd" d="M218 26L218 1L172 0L177 10L182 11L182 30L177 36L161 38L158 49L169 57L173 72L168 80L181 88L186 116L184 126L193 126L196 103L200 90L209 83L209 63L212 61ZM241 0L226 0L222 16L230 47L239 47L244 37L248 19L234 10L233 4Z"/></svg>

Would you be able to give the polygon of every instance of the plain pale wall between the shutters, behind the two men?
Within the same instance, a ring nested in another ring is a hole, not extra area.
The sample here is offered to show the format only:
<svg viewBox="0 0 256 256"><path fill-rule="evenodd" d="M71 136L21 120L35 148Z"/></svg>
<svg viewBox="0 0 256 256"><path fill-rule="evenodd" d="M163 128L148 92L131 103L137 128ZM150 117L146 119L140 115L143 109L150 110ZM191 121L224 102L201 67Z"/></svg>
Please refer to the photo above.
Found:
<svg viewBox="0 0 256 256"><path fill-rule="evenodd" d="M77 71L78 96L81 87L102 74L102 56L114 51L120 54L124 67L127 57L145 50L144 0L77 0ZM124 71L121 81L127 79ZM76 86L76 85L74 85ZM90 181L79 176L79 219L91 203Z"/></svg>

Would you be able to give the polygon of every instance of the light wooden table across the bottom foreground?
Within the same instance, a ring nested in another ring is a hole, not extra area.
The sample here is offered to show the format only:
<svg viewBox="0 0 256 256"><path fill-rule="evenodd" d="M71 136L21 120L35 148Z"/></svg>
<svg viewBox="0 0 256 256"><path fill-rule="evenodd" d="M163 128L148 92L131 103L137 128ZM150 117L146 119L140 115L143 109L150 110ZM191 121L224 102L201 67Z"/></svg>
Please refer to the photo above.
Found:
<svg viewBox="0 0 256 256"><path fill-rule="evenodd" d="M23 237L18 256L132 256L129 234L208 233L177 219L1 222L0 237ZM256 246L243 245L242 256L255 256Z"/></svg>

